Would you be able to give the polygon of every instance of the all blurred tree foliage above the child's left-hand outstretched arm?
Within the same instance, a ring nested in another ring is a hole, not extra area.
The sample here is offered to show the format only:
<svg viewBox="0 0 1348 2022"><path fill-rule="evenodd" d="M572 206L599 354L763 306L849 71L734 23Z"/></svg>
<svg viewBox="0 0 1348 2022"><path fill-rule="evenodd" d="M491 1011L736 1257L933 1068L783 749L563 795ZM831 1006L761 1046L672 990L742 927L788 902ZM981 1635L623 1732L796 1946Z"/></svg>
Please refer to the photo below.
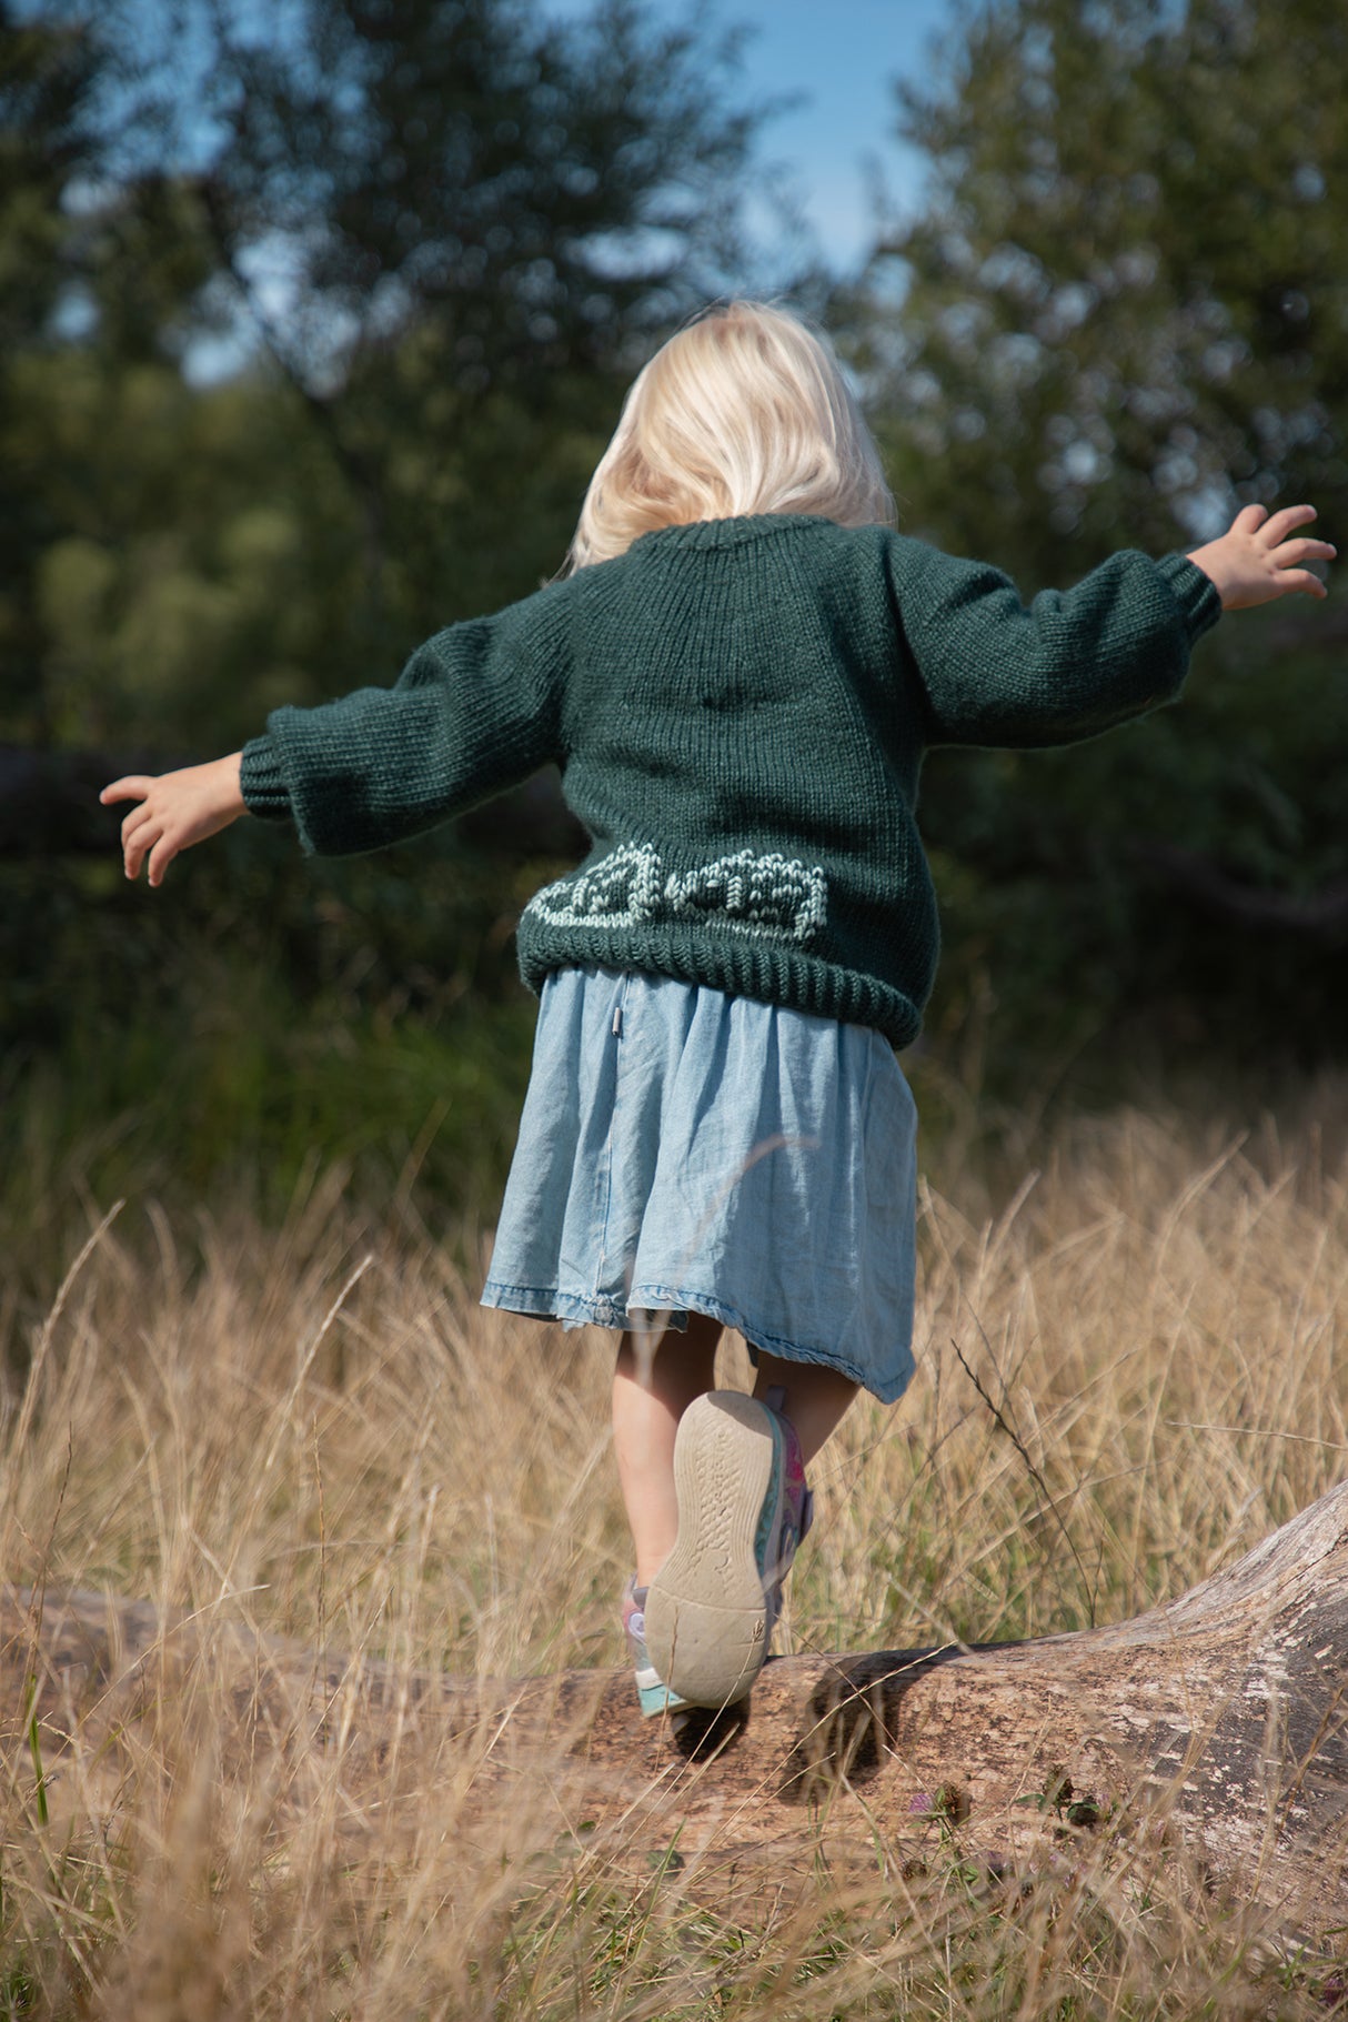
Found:
<svg viewBox="0 0 1348 2022"><path fill-rule="evenodd" d="M635 346L736 259L754 117L701 30L631 0L243 24L109 0L8 44L46 81L0 105L44 231L6 352L10 734L234 738L534 588Z"/></svg>

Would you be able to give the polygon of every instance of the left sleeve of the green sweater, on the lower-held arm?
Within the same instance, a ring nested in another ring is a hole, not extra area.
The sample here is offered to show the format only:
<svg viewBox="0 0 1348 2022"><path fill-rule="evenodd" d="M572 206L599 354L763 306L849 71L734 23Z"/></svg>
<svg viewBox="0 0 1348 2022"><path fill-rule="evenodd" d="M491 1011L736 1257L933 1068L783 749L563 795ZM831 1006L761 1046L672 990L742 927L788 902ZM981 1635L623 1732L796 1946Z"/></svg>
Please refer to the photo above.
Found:
<svg viewBox="0 0 1348 2022"><path fill-rule="evenodd" d="M273 710L243 752L249 811L293 819L307 851L354 855L562 758L564 588L437 633L392 687Z"/></svg>

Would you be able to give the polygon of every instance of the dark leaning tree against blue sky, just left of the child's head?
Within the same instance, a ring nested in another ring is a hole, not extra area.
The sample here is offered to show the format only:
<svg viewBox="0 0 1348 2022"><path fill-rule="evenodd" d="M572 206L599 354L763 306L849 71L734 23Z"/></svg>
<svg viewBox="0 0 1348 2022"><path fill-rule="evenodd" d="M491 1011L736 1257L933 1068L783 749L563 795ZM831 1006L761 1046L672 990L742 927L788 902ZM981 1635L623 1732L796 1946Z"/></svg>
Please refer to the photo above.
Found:
<svg viewBox="0 0 1348 2022"><path fill-rule="evenodd" d="M744 271L756 115L732 47L635 0L570 24L295 0L265 38L224 6L186 18L202 301L261 338L358 518L342 685L558 566L637 352ZM154 71L137 105L174 131Z"/></svg>

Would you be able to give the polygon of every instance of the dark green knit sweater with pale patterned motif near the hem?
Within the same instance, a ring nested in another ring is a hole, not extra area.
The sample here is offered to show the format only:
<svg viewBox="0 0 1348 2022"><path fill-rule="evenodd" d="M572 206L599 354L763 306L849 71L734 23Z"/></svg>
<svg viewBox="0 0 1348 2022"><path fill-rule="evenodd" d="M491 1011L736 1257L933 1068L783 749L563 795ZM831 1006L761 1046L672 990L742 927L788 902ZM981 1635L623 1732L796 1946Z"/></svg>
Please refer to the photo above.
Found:
<svg viewBox="0 0 1348 2022"><path fill-rule="evenodd" d="M519 922L519 967L600 962L877 1025L905 1045L938 952L913 823L930 744L1063 744L1168 702L1221 599L1116 554L1023 607L885 528L663 528L422 645L392 690L277 710L255 815L378 849L550 758L594 837Z"/></svg>

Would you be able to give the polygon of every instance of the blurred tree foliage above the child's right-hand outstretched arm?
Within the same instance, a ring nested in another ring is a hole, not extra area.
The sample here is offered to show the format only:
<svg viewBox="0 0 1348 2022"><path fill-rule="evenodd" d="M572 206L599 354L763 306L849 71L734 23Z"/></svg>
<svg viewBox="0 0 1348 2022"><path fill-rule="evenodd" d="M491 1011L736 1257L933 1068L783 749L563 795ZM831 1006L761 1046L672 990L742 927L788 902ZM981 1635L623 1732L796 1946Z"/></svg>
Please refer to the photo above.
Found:
<svg viewBox="0 0 1348 2022"><path fill-rule="evenodd" d="M936 87L901 93L928 198L881 253L907 273L887 439L924 518L1051 578L1067 540L1342 508L1344 77L1344 0L968 20Z"/></svg>

